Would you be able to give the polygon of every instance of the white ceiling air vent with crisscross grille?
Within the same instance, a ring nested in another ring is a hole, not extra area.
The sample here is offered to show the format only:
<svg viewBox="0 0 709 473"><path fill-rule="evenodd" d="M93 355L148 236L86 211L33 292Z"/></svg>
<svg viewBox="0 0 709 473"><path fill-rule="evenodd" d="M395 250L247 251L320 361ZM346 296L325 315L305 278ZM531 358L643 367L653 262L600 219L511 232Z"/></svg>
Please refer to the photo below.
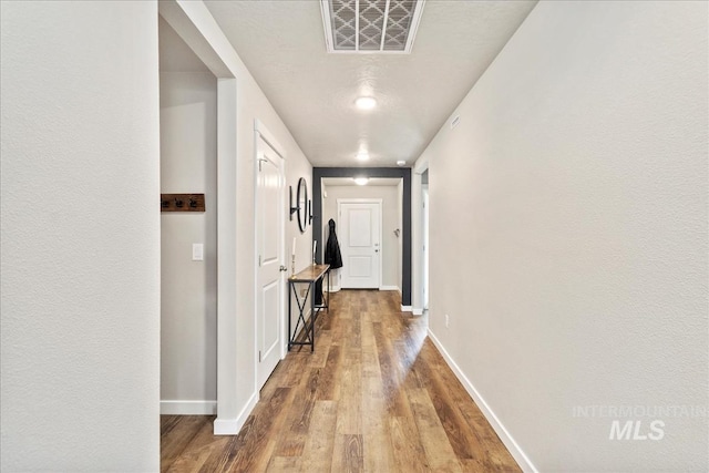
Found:
<svg viewBox="0 0 709 473"><path fill-rule="evenodd" d="M320 0L328 52L410 53L424 0Z"/></svg>

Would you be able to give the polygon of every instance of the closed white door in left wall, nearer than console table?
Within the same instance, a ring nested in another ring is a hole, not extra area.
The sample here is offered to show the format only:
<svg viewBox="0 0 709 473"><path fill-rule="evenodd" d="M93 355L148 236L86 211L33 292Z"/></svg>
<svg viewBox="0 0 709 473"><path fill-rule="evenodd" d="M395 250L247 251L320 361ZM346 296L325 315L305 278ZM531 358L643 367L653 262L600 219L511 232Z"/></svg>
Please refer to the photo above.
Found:
<svg viewBox="0 0 709 473"><path fill-rule="evenodd" d="M284 161L258 135L256 169L256 348L260 389L281 358L284 278Z"/></svg>

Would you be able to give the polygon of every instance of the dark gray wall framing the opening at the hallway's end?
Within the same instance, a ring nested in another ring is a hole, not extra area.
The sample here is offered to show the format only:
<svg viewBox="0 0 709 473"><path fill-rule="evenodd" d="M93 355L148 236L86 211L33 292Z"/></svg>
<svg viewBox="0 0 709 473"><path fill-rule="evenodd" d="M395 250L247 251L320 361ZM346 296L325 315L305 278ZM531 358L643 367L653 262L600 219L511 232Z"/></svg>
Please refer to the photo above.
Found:
<svg viewBox="0 0 709 473"><path fill-rule="evenodd" d="M402 167L314 167L312 168L312 238L322 248L322 178L323 177L393 177L403 179L401 229L401 305L411 306L411 169ZM317 263L322 263L318 251Z"/></svg>

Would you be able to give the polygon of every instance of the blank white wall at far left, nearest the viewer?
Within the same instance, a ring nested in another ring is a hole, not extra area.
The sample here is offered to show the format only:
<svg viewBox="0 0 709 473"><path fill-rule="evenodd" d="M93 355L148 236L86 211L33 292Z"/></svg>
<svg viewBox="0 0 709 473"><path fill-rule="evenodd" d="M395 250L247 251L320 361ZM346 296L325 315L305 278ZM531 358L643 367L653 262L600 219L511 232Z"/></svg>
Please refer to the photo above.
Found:
<svg viewBox="0 0 709 473"><path fill-rule="evenodd" d="M157 471L157 4L0 8L0 470Z"/></svg>

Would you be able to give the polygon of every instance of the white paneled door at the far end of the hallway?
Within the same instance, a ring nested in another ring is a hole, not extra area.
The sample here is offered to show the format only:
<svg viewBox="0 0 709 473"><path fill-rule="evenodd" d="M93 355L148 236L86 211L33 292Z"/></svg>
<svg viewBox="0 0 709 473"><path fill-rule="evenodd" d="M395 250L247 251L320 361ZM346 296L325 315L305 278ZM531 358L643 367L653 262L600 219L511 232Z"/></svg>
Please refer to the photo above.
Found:
<svg viewBox="0 0 709 473"><path fill-rule="evenodd" d="M340 286L379 289L381 284L381 199L338 199L340 228Z"/></svg>

